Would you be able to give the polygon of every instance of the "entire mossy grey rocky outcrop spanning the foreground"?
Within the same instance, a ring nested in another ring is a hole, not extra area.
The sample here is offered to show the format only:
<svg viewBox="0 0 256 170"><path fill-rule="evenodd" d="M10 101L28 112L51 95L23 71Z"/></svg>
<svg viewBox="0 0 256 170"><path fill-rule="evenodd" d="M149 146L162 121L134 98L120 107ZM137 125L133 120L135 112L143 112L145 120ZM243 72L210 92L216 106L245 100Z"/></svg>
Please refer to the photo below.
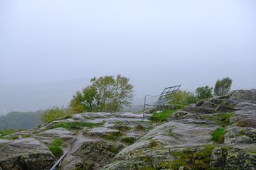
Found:
<svg viewBox="0 0 256 170"><path fill-rule="evenodd" d="M256 169L256 91L237 90L142 121L137 113L80 113L0 140L0 170ZM17 137L18 136L18 137Z"/></svg>

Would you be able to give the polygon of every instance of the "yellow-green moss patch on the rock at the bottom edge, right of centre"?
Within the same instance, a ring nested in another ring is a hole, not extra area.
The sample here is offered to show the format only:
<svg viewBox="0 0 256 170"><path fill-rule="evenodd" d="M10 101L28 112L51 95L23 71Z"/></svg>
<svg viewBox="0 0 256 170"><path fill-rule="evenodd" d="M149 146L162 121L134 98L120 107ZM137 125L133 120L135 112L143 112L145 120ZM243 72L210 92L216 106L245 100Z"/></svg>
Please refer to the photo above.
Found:
<svg viewBox="0 0 256 170"><path fill-rule="evenodd" d="M188 149L183 152L175 152L173 155L178 157L173 162L161 162L159 169L174 169L178 170L181 166L185 169L192 170L217 170L210 167L210 154L213 152L215 145L206 145L201 152L195 152Z"/></svg>

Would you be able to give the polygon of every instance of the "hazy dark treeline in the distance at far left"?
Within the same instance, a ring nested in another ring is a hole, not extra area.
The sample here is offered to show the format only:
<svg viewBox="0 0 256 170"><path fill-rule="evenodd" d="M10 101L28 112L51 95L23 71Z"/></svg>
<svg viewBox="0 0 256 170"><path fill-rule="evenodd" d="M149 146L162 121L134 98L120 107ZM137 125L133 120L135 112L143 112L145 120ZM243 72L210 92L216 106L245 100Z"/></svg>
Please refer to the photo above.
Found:
<svg viewBox="0 0 256 170"><path fill-rule="evenodd" d="M43 110L36 112L11 112L0 115L0 130L36 128L41 123Z"/></svg>

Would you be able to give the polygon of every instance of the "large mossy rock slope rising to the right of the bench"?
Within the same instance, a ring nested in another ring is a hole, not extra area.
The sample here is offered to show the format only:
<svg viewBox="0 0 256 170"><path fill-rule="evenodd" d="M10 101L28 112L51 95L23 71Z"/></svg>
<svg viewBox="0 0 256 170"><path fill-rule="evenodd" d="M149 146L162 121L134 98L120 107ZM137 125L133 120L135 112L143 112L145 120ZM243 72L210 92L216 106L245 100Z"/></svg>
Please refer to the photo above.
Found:
<svg viewBox="0 0 256 170"><path fill-rule="evenodd" d="M103 169L256 169L255 96L232 91L181 108ZM212 140L217 128L225 131L222 142Z"/></svg>

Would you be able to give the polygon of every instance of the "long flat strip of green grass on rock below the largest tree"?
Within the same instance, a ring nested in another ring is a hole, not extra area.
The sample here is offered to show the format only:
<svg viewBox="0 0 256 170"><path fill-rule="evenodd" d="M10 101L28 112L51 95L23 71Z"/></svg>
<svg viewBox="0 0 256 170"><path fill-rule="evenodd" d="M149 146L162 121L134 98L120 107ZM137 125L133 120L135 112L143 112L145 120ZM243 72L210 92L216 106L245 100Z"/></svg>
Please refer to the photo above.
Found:
<svg viewBox="0 0 256 170"><path fill-rule="evenodd" d="M62 122L62 123L56 123L53 125L53 128L66 128L68 130L76 127L88 127L88 128L94 128L100 125L104 125L105 121L102 121L102 123L86 123L86 122Z"/></svg>

